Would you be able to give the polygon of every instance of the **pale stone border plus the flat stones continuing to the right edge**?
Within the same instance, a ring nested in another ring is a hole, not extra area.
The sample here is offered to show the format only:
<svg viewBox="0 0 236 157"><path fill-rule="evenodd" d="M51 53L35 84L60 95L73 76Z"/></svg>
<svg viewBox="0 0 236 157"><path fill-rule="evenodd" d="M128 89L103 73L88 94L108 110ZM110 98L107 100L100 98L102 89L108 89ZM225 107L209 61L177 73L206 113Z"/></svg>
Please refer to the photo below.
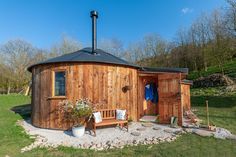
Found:
<svg viewBox="0 0 236 157"><path fill-rule="evenodd" d="M204 130L204 129L196 129L196 128L168 128L162 126L155 126L151 124L143 124L141 123L141 127L137 127L136 129L133 129L133 131L129 132L130 136L135 137L131 139L122 139L122 137L115 137L113 140L107 140L103 142L96 142L96 141L90 141L90 142L84 142L84 143L68 143L66 141L61 141L61 143L55 143L52 144L48 141L48 139L42 135L30 134L30 129L27 129L24 127L24 121L20 120L17 121L17 124L22 126L26 133L30 135L30 138L35 139L35 141L30 144L29 146L26 146L21 149L21 152L30 151L34 148L56 148L58 146L65 146L65 147L73 147L73 148L80 148L80 149L92 149L95 151L99 150L108 150L108 149L121 149L126 146L137 146L137 145L151 145L151 144L159 144L164 142L172 142L176 140L178 137L180 137L182 134L185 133L194 133L202 137L215 137L220 139L231 139L236 140L236 135L231 134L230 131L224 129L224 128L217 128L216 132ZM149 136L146 138L139 138L142 133L145 133L145 130L162 130L163 132L167 133L169 136L162 136L162 137L155 137L155 136Z"/></svg>

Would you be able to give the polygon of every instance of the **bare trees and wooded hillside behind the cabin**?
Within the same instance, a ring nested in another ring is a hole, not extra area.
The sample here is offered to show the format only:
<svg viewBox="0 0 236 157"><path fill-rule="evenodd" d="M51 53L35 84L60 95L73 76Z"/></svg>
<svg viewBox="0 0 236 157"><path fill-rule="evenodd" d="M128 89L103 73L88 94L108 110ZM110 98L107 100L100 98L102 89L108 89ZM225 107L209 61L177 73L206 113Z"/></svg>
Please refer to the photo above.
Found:
<svg viewBox="0 0 236 157"><path fill-rule="evenodd" d="M224 73L223 64L236 58L236 0L227 3L226 8L202 13L190 28L179 28L172 41L153 33L126 47L117 38L102 40L98 48L142 66L186 67L199 77L200 71L218 66ZM83 44L68 35L50 49L23 39L0 43L0 94L24 91L31 82L30 65L81 48Z"/></svg>

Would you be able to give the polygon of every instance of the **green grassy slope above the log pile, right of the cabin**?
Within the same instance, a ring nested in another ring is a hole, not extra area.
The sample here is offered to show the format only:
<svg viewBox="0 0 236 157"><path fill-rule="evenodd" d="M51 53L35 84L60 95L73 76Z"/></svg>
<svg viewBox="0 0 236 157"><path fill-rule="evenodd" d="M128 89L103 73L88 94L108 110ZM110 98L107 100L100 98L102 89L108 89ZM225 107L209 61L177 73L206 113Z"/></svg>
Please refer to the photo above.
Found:
<svg viewBox="0 0 236 157"><path fill-rule="evenodd" d="M223 69L224 69L225 75L232 78L236 78L236 59L224 64ZM221 69L218 66L209 67L207 71L201 70L200 72L197 72L197 71L190 72L190 74L188 75L188 79L194 80L201 76L205 77L205 76L215 74L215 73L222 73Z"/></svg>

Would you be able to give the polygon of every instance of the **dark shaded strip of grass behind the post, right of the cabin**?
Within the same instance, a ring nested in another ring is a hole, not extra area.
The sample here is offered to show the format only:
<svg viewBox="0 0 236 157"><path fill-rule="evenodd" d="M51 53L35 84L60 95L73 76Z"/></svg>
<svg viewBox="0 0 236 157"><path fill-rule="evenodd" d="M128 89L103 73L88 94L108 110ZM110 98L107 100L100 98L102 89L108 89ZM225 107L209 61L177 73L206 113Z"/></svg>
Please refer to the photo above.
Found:
<svg viewBox="0 0 236 157"><path fill-rule="evenodd" d="M235 96L191 96L192 106L206 106L206 100L209 107L232 108L236 106Z"/></svg>

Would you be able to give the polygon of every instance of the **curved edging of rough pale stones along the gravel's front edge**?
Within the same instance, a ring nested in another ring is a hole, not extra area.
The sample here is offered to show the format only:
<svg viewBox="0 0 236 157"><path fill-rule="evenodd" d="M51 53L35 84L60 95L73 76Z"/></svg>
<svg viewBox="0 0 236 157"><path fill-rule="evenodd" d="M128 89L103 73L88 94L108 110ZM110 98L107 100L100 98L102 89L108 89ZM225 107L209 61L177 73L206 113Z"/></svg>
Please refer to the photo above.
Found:
<svg viewBox="0 0 236 157"><path fill-rule="evenodd" d="M23 121L18 121L18 125L23 126ZM150 126L148 126L150 127ZM159 127L151 127L153 130L159 130ZM29 130L25 130L27 134L29 134ZM144 138L144 139L139 139L138 137L134 140L127 140L124 141L121 138L117 137L113 141L106 141L106 142L100 142L100 143L94 143L94 142L85 142L84 144L74 144L74 145L68 145L66 142L63 142L61 144L51 144L48 143L47 138L41 135L31 135L30 138L34 138L35 141L30 144L29 146L26 146L21 149L21 152L26 152L30 151L34 148L56 148L58 146L69 146L73 148L80 148L80 149L92 149L92 150L108 150L108 149L121 149L126 146L137 146L137 145L150 145L150 144L159 144L163 142L172 142L176 140L178 137L181 136L181 134L185 133L182 128L178 130L171 130L171 129L164 129L163 130L166 133L171 134L170 137L150 137L150 138ZM140 131L143 132L143 131ZM132 135L132 132L130 133L130 136L135 136ZM139 136L139 135L137 135Z"/></svg>

